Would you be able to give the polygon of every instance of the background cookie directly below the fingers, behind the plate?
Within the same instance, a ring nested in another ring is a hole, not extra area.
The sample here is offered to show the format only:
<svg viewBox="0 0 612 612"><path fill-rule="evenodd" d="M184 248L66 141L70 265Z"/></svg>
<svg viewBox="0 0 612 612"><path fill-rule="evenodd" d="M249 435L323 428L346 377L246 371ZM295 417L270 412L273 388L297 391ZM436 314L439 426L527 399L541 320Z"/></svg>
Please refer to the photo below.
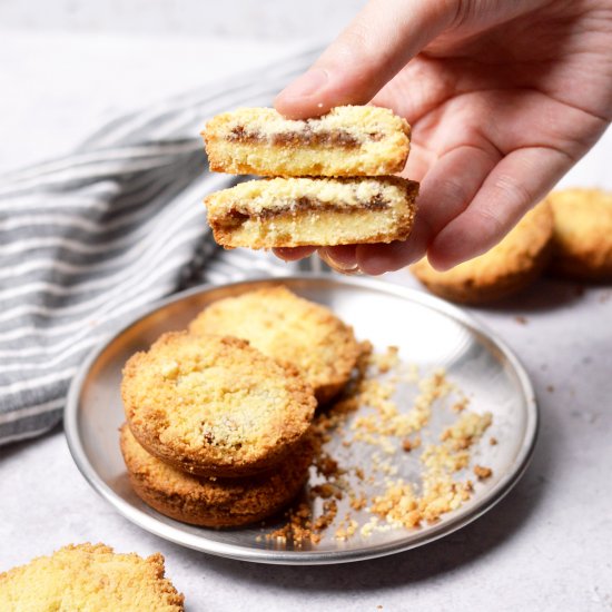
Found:
<svg viewBox="0 0 612 612"><path fill-rule="evenodd" d="M550 260L553 216L547 200L527 213L491 250L446 272L426 259L411 267L432 293L462 304L485 304L529 286Z"/></svg>

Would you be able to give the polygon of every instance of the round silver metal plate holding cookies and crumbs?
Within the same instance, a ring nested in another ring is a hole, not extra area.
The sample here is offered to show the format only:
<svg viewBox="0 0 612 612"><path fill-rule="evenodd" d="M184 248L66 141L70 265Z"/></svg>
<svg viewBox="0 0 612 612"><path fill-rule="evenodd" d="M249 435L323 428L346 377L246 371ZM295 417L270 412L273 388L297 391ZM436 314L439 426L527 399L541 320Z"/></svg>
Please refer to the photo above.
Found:
<svg viewBox="0 0 612 612"><path fill-rule="evenodd" d="M124 421L119 383L125 362L161 333L184 328L211 302L269 284L268 278L196 288L157 304L97 349L80 368L65 415L68 444L87 481L118 512L160 537L198 551L261 563L324 564L419 546L474 521L510 491L531 457L537 407L524 368L499 338L440 299L379 280L300 275L274 279L279 282L296 294L333 308L354 326L359 338L369 339L377 349L396 345L403 361L416 364L425 373L444 367L448 379L470 395L471 408L493 413L487 435L500 443L491 446L483 442L476 455L478 463L493 468L493 476L477 484L468 502L435 524L375 532L367 537L357 533L345 542L330 534L319 545L304 550L270 544L261 537L258 525L228 531L195 527L144 504L129 486L118 445L117 430ZM352 447L348 452L359 450ZM364 456L363 461L368 460ZM343 510L340 506L338 515Z"/></svg>

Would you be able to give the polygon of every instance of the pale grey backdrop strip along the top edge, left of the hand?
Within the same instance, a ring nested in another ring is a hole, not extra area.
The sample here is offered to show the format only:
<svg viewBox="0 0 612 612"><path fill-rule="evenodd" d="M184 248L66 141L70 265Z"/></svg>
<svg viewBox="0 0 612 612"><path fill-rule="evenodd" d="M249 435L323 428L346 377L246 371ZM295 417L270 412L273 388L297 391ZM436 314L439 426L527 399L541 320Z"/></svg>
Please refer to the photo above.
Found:
<svg viewBox="0 0 612 612"><path fill-rule="evenodd" d="M0 30L329 38L366 0L2 0Z"/></svg>

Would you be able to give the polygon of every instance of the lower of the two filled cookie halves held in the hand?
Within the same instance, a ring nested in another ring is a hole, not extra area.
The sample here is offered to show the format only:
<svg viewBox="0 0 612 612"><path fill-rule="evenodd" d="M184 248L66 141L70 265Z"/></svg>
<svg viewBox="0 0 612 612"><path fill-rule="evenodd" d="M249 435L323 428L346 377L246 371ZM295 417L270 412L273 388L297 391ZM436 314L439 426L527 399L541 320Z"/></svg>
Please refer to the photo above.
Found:
<svg viewBox="0 0 612 612"><path fill-rule="evenodd" d="M205 199L226 248L333 246L405 240L418 184L398 177L251 180Z"/></svg>

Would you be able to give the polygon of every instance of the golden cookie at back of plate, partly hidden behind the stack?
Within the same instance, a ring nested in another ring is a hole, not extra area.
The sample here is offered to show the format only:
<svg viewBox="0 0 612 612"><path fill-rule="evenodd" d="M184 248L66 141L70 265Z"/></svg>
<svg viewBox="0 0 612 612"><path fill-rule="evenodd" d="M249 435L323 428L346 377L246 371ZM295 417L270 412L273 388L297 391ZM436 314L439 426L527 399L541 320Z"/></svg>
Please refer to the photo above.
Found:
<svg viewBox="0 0 612 612"><path fill-rule="evenodd" d="M189 329L244 338L265 355L293 363L319 402L348 382L361 352L353 329L332 310L283 286L215 302Z"/></svg>

